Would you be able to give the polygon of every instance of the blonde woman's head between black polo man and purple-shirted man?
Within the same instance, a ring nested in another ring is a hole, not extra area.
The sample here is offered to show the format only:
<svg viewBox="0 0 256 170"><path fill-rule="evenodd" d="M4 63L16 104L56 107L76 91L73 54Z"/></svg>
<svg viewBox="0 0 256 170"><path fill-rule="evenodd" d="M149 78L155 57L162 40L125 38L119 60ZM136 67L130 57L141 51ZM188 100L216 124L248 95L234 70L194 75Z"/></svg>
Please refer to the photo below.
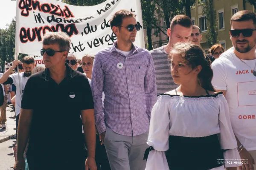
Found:
<svg viewBox="0 0 256 170"><path fill-rule="evenodd" d="M93 72L93 58L94 58L94 55L86 54L81 59L84 74L90 80L92 79L92 72Z"/></svg>

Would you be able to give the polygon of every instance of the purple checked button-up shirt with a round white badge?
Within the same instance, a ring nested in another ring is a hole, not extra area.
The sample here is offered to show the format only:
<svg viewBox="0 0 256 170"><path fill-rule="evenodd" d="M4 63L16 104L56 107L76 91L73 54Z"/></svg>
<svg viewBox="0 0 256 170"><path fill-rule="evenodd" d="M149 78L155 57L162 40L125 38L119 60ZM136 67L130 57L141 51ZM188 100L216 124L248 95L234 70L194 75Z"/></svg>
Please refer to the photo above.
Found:
<svg viewBox="0 0 256 170"><path fill-rule="evenodd" d="M154 62L144 48L133 45L133 51L125 57L115 45L99 51L93 62L96 127L99 133L108 126L120 135L137 136L148 130L151 109L157 101Z"/></svg>

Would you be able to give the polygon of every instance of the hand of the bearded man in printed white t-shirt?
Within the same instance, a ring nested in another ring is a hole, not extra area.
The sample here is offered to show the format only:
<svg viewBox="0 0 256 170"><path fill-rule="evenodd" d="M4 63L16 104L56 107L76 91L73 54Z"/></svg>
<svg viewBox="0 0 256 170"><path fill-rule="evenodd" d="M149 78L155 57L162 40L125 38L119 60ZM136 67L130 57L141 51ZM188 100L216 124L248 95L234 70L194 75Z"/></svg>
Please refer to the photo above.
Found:
<svg viewBox="0 0 256 170"><path fill-rule="evenodd" d="M244 161L244 164L239 167L239 170L254 170L253 164L255 164L255 161L250 153L243 148L239 154L241 159L243 159L242 161Z"/></svg>

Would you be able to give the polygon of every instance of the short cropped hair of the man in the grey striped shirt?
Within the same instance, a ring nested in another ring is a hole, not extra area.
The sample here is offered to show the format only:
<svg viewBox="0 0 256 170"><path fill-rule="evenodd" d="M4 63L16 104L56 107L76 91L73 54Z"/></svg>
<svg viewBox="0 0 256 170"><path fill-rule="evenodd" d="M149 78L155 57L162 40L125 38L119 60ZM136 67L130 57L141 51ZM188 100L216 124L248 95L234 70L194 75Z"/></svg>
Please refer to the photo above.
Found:
<svg viewBox="0 0 256 170"><path fill-rule="evenodd" d="M177 24L186 28L190 28L192 26L192 21L186 15L176 15L171 22L171 31L173 31L174 26L176 26Z"/></svg>

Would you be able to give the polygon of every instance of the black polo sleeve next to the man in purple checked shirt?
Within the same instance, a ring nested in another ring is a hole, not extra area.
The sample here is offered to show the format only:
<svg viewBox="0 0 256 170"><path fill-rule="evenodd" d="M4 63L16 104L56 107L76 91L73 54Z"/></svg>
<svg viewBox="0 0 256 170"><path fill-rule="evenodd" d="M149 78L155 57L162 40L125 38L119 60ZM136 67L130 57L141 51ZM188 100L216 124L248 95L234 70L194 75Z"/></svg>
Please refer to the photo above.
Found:
<svg viewBox="0 0 256 170"><path fill-rule="evenodd" d="M93 104L93 95L92 95L92 91L90 88L90 83L89 80L87 79L87 77L85 75L83 75L83 79L81 82L81 96L83 97L81 99L81 111L82 110L87 110L87 109L93 109L94 108L94 104Z"/></svg>

